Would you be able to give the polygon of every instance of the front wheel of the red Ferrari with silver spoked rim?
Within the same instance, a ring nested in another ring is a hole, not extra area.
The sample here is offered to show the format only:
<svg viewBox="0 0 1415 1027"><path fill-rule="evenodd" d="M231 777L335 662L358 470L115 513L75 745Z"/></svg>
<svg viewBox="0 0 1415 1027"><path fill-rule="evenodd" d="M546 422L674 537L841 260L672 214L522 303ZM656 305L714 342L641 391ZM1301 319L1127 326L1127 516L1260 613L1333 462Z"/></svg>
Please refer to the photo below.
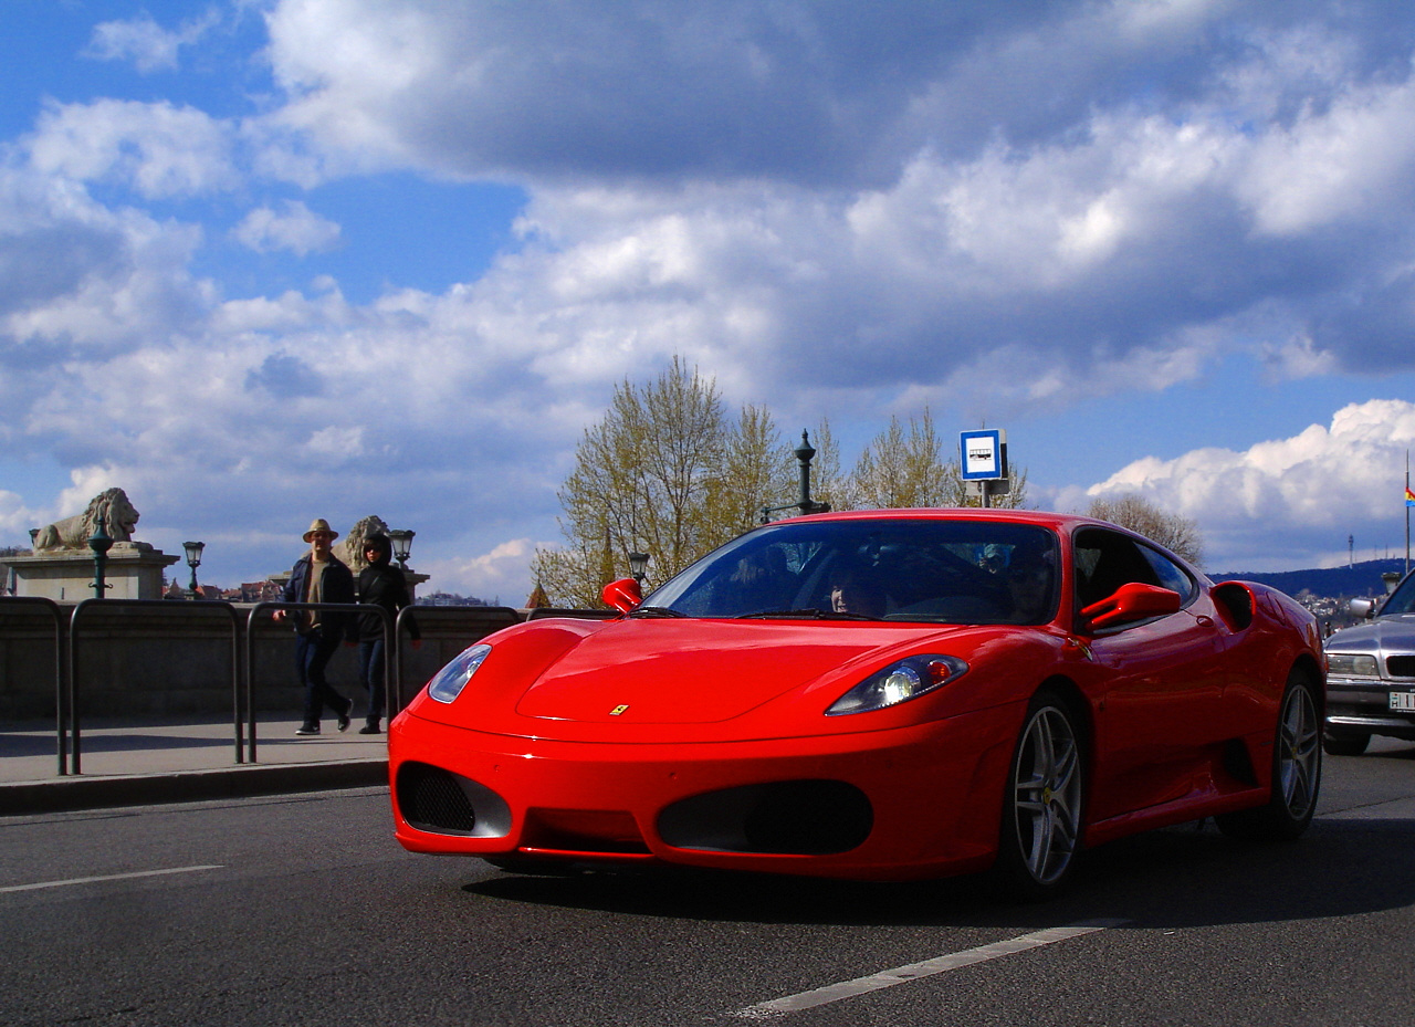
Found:
<svg viewBox="0 0 1415 1027"><path fill-rule="evenodd" d="M1085 768L1077 724L1060 696L1039 692L1017 736L998 849L1000 883L1017 898L1054 895L1080 854Z"/></svg>

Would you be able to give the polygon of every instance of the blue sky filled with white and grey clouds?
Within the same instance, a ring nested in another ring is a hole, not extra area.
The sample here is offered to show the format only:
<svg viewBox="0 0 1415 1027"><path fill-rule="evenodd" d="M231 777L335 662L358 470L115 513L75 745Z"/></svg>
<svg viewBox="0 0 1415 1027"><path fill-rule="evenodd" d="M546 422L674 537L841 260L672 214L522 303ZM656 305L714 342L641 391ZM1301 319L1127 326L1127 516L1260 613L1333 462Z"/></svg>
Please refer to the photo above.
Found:
<svg viewBox="0 0 1415 1027"><path fill-rule="evenodd" d="M616 383L848 467L1006 427L1211 570L1404 547L1415 11L11 0L0 545L110 485L204 576L313 516L519 603Z"/></svg>

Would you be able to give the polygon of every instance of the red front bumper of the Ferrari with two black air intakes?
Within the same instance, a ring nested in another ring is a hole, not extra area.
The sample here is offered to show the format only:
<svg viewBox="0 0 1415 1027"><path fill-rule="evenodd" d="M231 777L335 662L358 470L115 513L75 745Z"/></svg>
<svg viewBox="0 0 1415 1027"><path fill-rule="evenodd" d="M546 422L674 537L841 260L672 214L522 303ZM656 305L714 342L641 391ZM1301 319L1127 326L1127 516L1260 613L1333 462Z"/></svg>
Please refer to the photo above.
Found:
<svg viewBox="0 0 1415 1027"><path fill-rule="evenodd" d="M1022 704L884 731L565 743L389 726L398 840L504 864L676 863L907 880L996 854Z"/></svg>

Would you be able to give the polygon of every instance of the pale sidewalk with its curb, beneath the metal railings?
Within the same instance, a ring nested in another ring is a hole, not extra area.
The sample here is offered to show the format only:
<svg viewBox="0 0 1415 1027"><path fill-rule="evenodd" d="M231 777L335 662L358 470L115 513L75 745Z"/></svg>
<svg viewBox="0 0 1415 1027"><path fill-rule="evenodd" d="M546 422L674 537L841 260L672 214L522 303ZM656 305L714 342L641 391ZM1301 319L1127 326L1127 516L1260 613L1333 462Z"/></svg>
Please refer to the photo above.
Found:
<svg viewBox="0 0 1415 1027"><path fill-rule="evenodd" d="M0 816L388 784L386 736L358 734L361 720L341 734L330 719L296 738L299 726L258 721L256 762L238 764L231 720L93 719L81 724L82 772L61 777L54 721L0 724Z"/></svg>

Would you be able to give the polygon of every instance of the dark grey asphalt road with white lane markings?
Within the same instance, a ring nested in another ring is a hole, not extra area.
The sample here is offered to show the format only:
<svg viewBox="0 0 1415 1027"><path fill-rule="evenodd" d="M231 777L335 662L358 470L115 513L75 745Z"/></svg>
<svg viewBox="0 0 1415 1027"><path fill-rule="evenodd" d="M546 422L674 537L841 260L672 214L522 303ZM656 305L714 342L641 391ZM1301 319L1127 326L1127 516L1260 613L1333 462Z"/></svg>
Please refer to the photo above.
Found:
<svg viewBox="0 0 1415 1027"><path fill-rule="evenodd" d="M1034 907L516 877L403 853L381 789L6 818L0 1023L1404 1027L1415 747L1373 748L1296 845L1157 832Z"/></svg>

